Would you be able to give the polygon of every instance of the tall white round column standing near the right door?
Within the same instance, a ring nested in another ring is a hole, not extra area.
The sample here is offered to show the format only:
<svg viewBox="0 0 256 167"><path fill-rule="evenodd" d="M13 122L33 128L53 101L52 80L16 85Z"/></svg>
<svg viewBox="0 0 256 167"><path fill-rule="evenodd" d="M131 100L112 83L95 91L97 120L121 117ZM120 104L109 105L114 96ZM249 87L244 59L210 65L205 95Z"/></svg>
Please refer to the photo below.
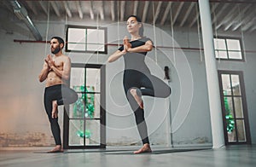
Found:
<svg viewBox="0 0 256 167"><path fill-rule="evenodd" d="M224 128L218 87L218 72L214 55L212 19L209 0L199 0L201 30L207 70L207 88L212 125L213 148L224 146Z"/></svg>

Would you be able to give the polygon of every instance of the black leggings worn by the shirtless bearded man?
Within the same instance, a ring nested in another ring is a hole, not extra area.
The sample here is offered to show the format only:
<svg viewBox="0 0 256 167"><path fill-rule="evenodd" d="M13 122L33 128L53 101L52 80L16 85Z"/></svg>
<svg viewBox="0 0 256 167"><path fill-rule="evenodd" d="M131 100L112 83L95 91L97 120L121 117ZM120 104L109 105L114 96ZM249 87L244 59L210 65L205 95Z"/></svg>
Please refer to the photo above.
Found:
<svg viewBox="0 0 256 167"><path fill-rule="evenodd" d="M57 101L58 106L72 104L78 100L77 93L64 84L56 84L44 89L44 108L49 118L52 135L56 145L61 145L61 129L58 118L52 118L52 101Z"/></svg>

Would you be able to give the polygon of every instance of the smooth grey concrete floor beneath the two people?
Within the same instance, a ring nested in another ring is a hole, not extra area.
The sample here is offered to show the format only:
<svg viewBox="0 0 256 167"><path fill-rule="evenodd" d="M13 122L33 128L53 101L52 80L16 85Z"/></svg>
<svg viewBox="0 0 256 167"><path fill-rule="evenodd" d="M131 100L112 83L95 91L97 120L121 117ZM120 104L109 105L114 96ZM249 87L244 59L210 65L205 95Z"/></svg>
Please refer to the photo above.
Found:
<svg viewBox="0 0 256 167"><path fill-rule="evenodd" d="M249 167L256 165L256 146L212 148L160 148L153 153L132 154L137 147L110 147L106 150L67 150L45 153L49 147L0 148L0 167Z"/></svg>

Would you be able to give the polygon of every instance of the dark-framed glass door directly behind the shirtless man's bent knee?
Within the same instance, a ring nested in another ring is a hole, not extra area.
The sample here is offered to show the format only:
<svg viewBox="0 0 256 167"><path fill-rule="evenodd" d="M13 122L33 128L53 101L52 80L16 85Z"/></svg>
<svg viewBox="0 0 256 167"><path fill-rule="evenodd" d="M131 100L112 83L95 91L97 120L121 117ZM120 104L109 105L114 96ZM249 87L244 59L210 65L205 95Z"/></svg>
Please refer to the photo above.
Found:
<svg viewBox="0 0 256 167"><path fill-rule="evenodd" d="M100 65L72 65L70 87L79 99L64 116L65 148L106 147L104 72L104 66Z"/></svg>

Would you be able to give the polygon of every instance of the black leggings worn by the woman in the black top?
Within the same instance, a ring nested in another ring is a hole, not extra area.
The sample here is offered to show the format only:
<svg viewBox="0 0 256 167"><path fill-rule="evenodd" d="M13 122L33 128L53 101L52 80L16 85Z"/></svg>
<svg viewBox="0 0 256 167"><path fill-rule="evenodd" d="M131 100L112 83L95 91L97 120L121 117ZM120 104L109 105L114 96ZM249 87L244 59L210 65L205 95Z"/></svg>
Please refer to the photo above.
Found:
<svg viewBox="0 0 256 167"><path fill-rule="evenodd" d="M131 109L135 114L138 132L143 144L149 143L148 128L144 118L144 110L138 106L137 101L131 95L131 89L137 89L137 95L149 95L154 97L166 98L171 95L171 88L160 78L156 78L150 73L142 73L135 70L125 70L124 73L125 95L130 103Z"/></svg>

